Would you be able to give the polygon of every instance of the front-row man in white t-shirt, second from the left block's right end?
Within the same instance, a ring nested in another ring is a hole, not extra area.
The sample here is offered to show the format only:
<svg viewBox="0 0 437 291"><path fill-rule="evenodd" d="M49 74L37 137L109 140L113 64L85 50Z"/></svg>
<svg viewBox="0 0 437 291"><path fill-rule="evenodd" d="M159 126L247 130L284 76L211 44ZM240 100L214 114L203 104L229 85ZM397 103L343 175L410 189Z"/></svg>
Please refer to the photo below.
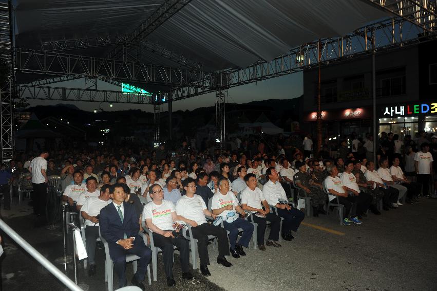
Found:
<svg viewBox="0 0 437 291"><path fill-rule="evenodd" d="M244 181L248 187L241 192L241 204L243 210L252 211L253 222L257 224L257 242L260 250L265 250L264 233L267 227L267 222L270 222L271 229L269 241L279 240L279 230L281 227L281 219L279 216L270 212L270 207L265 201L262 191L256 187L257 179L254 174L244 176ZM264 209L262 209L264 207ZM248 219L251 220L251 217Z"/></svg>

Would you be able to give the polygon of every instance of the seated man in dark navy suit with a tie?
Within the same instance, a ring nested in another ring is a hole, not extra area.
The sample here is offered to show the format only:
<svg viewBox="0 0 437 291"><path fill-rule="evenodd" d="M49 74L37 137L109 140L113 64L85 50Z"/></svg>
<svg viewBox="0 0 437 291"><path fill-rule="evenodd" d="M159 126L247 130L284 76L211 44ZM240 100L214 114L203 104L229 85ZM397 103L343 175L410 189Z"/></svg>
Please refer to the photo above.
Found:
<svg viewBox="0 0 437 291"><path fill-rule="evenodd" d="M138 234L140 224L135 207L124 202L126 193L129 193L126 184L112 185L109 193L113 200L100 211L100 233L108 242L109 255L114 262L114 269L119 278L119 286L126 285L126 254L136 254L140 257L137 273L131 283L144 290L144 277L147 265L150 263L151 250Z"/></svg>

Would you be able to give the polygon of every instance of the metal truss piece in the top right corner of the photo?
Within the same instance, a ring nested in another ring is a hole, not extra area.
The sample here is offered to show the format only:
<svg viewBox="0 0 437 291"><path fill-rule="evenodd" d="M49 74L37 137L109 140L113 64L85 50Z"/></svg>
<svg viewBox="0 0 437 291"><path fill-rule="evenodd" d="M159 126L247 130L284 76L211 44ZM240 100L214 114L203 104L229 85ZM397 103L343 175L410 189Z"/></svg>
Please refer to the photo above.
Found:
<svg viewBox="0 0 437 291"><path fill-rule="evenodd" d="M402 17L424 31L437 30L437 2L435 0L362 0Z"/></svg>

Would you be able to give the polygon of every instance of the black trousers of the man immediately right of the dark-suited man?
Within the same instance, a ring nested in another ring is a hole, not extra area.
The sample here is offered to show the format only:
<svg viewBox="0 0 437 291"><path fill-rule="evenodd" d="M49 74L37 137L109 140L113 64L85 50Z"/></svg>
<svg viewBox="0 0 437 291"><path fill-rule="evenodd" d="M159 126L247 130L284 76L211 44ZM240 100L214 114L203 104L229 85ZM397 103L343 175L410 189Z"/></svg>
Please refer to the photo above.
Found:
<svg viewBox="0 0 437 291"><path fill-rule="evenodd" d="M182 272L189 271L189 243L187 240L185 240L182 234L178 235L176 238L166 238L164 235L154 232L153 240L155 242L155 246L162 250L164 271L167 278L173 278L173 246L176 246L179 249Z"/></svg>

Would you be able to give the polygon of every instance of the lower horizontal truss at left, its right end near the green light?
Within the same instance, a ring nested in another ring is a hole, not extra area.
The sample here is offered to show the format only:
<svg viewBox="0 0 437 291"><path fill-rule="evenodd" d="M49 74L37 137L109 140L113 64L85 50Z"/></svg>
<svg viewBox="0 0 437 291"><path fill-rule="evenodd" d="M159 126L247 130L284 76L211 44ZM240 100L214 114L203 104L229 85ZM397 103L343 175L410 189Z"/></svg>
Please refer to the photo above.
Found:
<svg viewBox="0 0 437 291"><path fill-rule="evenodd" d="M29 100L110 102L131 104L159 104L157 95L122 93L121 91L61 88L49 86L17 86L18 97Z"/></svg>

